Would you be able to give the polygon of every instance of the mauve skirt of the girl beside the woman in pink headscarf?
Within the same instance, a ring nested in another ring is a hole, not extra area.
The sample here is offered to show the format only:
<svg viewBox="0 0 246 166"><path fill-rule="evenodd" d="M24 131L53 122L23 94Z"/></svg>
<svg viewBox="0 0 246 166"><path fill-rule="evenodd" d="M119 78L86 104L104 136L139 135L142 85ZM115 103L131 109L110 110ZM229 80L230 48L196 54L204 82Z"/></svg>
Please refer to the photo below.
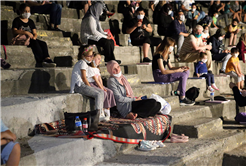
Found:
<svg viewBox="0 0 246 166"><path fill-rule="evenodd" d="M90 85L94 88L100 89L97 86L96 82L90 82ZM106 88L106 87L104 87L104 88L107 89L107 92L103 91L104 92L103 108L112 108L112 107L116 106L113 91Z"/></svg>

